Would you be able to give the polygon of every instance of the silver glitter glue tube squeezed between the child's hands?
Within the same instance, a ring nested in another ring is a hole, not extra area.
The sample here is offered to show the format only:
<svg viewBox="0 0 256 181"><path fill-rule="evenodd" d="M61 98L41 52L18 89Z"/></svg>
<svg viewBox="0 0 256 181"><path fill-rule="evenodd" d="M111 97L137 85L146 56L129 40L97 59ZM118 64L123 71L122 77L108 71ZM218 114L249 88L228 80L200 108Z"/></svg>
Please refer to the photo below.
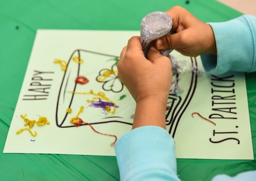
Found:
<svg viewBox="0 0 256 181"><path fill-rule="evenodd" d="M172 19L162 11L154 11L143 17L140 24L140 42L146 58L148 49L153 45L154 40L171 33ZM168 56L173 49L160 51L163 56Z"/></svg>

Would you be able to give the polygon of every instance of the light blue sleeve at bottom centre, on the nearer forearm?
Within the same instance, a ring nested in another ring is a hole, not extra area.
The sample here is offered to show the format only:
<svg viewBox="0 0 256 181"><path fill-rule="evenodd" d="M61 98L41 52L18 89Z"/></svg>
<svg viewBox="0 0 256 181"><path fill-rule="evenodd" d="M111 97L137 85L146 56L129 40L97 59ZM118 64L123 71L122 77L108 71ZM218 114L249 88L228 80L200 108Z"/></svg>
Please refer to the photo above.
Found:
<svg viewBox="0 0 256 181"><path fill-rule="evenodd" d="M115 145L121 180L179 180L174 140L165 129L143 126Z"/></svg>

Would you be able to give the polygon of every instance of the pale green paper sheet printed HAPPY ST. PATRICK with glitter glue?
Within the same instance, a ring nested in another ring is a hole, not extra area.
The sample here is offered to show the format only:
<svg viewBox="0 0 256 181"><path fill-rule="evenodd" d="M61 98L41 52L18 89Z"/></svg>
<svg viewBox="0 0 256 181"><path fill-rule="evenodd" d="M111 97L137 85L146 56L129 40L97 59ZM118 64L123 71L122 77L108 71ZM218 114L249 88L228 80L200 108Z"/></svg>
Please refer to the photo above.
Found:
<svg viewBox="0 0 256 181"><path fill-rule="evenodd" d="M38 30L4 153L114 156L113 135L120 138L131 130L136 106L117 78L116 63L128 39L138 35ZM191 69L202 69L200 57L171 55L182 69L171 89L176 81L183 93L170 92L166 105L166 130L176 142L176 156L254 159L244 74L199 76ZM42 117L50 124L35 123L30 130L36 136L28 130L16 133L29 128L25 119ZM70 122L74 118L82 121L80 126Z"/></svg>

